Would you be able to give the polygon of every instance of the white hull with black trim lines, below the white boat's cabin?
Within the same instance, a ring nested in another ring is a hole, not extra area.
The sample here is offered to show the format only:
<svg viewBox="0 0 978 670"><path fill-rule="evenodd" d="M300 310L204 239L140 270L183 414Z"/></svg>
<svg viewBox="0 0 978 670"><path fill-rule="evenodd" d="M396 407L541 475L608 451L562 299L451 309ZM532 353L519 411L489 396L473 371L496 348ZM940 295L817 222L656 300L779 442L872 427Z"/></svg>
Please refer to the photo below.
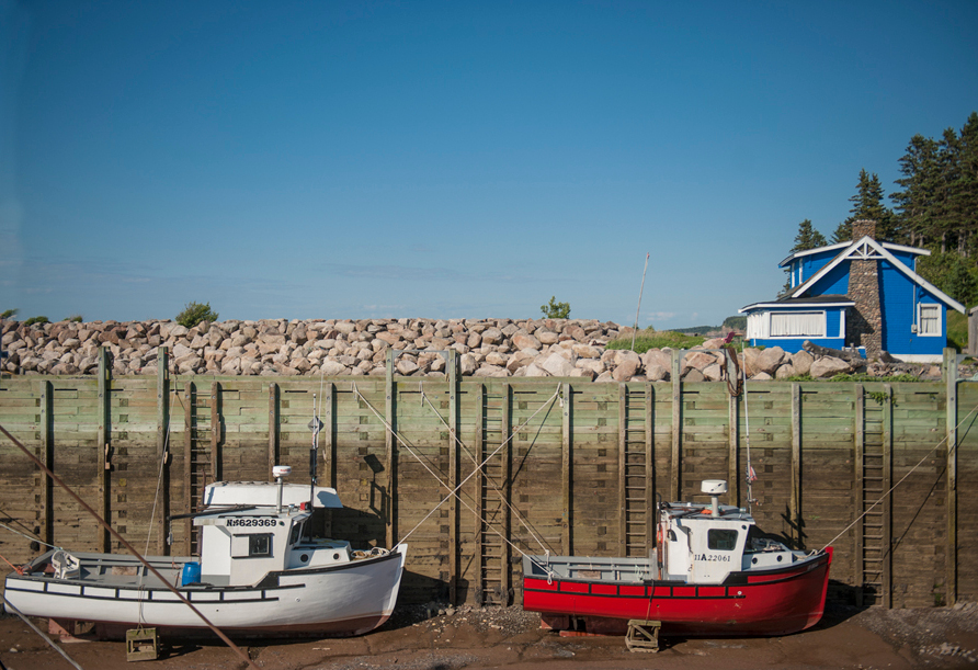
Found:
<svg viewBox="0 0 978 670"><path fill-rule="evenodd" d="M360 635L394 611L407 547L348 564L271 572L250 587L180 588L211 623L237 637ZM162 586L139 589L83 579L12 574L7 600L29 616L95 624L102 637L137 625L207 634L206 624Z"/></svg>

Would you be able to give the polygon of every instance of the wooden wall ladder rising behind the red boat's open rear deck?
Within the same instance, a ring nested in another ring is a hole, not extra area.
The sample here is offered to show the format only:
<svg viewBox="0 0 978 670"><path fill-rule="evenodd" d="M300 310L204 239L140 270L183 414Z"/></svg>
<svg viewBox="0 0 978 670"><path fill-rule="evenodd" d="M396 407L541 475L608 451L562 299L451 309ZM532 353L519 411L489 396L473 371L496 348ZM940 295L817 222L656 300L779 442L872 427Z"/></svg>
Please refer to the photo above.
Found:
<svg viewBox="0 0 978 670"><path fill-rule="evenodd" d="M655 546L651 390L618 385L618 472L623 556L648 556Z"/></svg>

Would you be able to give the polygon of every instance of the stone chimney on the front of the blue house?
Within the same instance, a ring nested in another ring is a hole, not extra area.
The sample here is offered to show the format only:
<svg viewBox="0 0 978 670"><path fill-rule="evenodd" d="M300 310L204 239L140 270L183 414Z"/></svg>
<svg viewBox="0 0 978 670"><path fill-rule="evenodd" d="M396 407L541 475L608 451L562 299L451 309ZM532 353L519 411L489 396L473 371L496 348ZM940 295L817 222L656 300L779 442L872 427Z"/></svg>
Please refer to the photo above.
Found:
<svg viewBox="0 0 978 670"><path fill-rule="evenodd" d="M852 241L869 236L876 239L876 222L852 223ZM879 305L879 276L876 260L853 259L849 264L849 297L855 303L846 319L846 343L865 347L866 359L883 351L883 309Z"/></svg>

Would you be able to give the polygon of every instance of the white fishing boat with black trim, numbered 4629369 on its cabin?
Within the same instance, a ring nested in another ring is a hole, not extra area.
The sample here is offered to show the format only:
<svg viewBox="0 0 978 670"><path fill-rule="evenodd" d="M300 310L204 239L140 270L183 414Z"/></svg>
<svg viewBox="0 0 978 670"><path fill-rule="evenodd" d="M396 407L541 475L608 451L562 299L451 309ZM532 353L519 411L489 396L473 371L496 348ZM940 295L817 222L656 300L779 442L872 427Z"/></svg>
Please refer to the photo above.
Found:
<svg viewBox="0 0 978 670"><path fill-rule="evenodd" d="M147 560L56 549L7 577L5 598L29 616L60 624L92 622L100 637L137 626L187 635L207 626L174 587L230 636L359 635L394 611L408 547L354 550L342 540L314 540L315 508L342 508L332 488L276 482L216 482L204 509L201 556ZM68 628L66 625L67 629Z"/></svg>

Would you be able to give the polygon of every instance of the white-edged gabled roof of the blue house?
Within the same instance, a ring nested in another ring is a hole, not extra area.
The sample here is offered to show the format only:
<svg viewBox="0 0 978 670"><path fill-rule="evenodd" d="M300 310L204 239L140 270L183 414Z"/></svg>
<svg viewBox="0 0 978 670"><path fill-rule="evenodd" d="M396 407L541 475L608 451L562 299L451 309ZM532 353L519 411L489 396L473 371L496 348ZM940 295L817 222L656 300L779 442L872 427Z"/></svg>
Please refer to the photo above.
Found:
<svg viewBox="0 0 978 670"><path fill-rule="evenodd" d="M837 265L848 260L880 260L885 259L892 264L899 272L907 276L911 282L922 287L924 291L930 293L932 296L944 303L947 307L952 309L956 309L957 311L965 314L965 306L952 298L949 295L931 284L929 281L913 272L910 268L903 264L897 257L890 253L890 249L894 251L909 251L912 253L917 253L918 255L930 255L930 251L926 249L917 249L914 247L905 247L902 245L892 245L890 242L877 242L872 237L863 237L862 239L855 240L849 243L842 245L831 245L829 247L821 247L819 249L810 249L808 251L799 251L793 255L789 255L787 259L781 262L780 266L783 266L789 260L797 258L799 255L806 255L809 253L815 253L817 251L825 251L827 249L840 249L841 251L835 254L831 261L826 263L821 270L811 275L808 281L795 286L791 291L788 291L785 295L777 298L776 300L770 303L754 303L753 305L748 305L741 309L739 313L742 313L747 309L757 309L758 307L791 307L795 305L800 305L805 303L800 303L801 299L811 299L816 297L830 297L833 298L833 303L842 300L849 300L849 296L806 296L805 294L818 283L823 276L826 276L829 272L831 272ZM827 306L829 303L819 303L823 306ZM851 300L848 303L849 305L854 305Z"/></svg>

